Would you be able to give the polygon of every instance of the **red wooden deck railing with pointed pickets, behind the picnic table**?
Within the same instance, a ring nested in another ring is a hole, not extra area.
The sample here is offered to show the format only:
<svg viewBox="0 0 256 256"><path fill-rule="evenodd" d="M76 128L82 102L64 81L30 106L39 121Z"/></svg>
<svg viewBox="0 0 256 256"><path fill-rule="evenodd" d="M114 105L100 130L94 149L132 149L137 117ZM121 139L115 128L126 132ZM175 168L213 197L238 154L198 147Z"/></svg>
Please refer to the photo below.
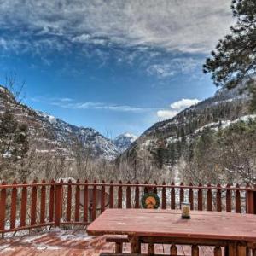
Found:
<svg viewBox="0 0 256 256"><path fill-rule="evenodd" d="M179 209L189 201L192 210L256 214L256 188L140 183L2 183L0 233L62 224L90 224L106 208L140 208L143 193L160 196L162 209Z"/></svg>

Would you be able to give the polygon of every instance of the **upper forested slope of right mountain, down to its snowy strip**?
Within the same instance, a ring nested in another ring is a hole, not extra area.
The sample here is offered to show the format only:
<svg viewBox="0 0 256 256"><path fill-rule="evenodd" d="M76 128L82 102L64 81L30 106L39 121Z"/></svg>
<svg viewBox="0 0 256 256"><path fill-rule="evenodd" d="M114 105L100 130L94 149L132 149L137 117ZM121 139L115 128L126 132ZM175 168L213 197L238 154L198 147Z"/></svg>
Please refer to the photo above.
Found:
<svg viewBox="0 0 256 256"><path fill-rule="evenodd" d="M184 109L172 119L155 123L132 143L119 160L137 159L142 152L148 152L154 162L170 163L170 154L176 158L187 154L185 143L193 144L205 128L225 128L239 120L254 118L249 112L250 95L245 84L235 89L222 88L214 96ZM186 152L185 152L186 151ZM185 153L184 153L185 152ZM132 163L131 163L132 165Z"/></svg>

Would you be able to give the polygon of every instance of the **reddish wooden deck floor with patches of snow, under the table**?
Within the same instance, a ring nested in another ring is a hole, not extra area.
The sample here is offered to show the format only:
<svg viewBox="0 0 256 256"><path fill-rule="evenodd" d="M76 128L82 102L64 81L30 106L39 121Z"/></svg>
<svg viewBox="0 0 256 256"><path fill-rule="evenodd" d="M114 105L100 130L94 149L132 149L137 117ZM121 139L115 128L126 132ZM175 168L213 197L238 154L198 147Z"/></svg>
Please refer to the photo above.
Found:
<svg viewBox="0 0 256 256"><path fill-rule="evenodd" d="M147 245L142 245L147 252ZM170 246L157 245L155 253L169 254ZM179 255L191 255L190 247L177 247ZM31 236L0 238L1 256L80 256L99 255L102 251L114 252L114 245L107 244L104 236L88 236L84 230L51 230ZM124 245L124 252L130 246ZM200 255L213 255L212 247L200 247Z"/></svg>

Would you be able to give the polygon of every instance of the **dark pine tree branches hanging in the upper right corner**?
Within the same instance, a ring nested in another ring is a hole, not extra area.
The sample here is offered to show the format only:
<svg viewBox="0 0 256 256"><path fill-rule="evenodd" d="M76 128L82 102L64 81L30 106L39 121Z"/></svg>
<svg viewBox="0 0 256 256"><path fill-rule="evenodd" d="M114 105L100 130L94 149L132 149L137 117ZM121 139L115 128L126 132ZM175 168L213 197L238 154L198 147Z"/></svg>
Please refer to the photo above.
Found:
<svg viewBox="0 0 256 256"><path fill-rule="evenodd" d="M251 80L256 71L256 1L233 0L231 9L236 25L219 40L203 66L205 73L212 73L215 84L228 88Z"/></svg>

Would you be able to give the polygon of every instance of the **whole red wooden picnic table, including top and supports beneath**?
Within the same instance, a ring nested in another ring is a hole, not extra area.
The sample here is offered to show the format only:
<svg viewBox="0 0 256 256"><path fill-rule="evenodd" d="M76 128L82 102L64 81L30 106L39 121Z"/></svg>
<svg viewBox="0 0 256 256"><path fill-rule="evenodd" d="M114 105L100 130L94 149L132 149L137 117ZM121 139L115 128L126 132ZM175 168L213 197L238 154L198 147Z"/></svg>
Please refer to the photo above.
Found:
<svg viewBox="0 0 256 256"><path fill-rule="evenodd" d="M141 243L214 246L214 254L246 256L247 248L256 255L256 215L227 212L191 211L191 219L182 219L177 210L108 209L90 224L90 235L127 235L131 253L140 253ZM171 247L172 248L172 247ZM154 248L152 249L154 254Z"/></svg>

